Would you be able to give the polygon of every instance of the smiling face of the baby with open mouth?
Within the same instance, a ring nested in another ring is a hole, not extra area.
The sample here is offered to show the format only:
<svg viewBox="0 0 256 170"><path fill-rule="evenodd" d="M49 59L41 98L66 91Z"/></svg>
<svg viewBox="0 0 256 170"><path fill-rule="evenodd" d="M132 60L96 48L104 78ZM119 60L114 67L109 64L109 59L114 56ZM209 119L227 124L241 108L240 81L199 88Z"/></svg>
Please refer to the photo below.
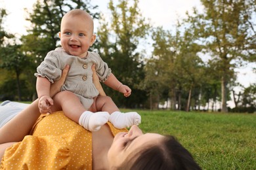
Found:
<svg viewBox="0 0 256 170"><path fill-rule="evenodd" d="M93 21L87 15L64 16L60 30L62 48L72 56L84 58L95 42Z"/></svg>

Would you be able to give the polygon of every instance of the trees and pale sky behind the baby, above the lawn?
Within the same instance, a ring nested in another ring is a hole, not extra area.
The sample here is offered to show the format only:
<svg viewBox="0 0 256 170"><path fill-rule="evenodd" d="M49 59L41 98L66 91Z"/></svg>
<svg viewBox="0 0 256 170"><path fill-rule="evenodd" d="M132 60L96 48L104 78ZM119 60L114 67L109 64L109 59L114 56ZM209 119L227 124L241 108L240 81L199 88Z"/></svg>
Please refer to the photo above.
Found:
<svg viewBox="0 0 256 170"><path fill-rule="evenodd" d="M91 50L99 52L117 78L133 89L133 95L124 99L105 88L120 107L255 111L253 1L1 4L7 8L1 18L2 100L36 97L35 67L59 45L61 16L79 7L95 18L97 40ZM16 12L26 7L16 13L26 23L8 11L14 11L11 7Z"/></svg>

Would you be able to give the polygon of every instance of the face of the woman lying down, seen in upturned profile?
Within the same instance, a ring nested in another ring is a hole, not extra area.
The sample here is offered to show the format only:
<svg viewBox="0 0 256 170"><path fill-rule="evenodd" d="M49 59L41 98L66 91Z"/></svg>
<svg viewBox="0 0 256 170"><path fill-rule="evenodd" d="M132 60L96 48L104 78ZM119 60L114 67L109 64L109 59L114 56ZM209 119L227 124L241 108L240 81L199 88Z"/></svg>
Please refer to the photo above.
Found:
<svg viewBox="0 0 256 170"><path fill-rule="evenodd" d="M142 148L161 142L163 135L157 133L143 134L138 126L132 126L128 133L117 133L110 150L108 151L108 162L110 167L117 167L131 154Z"/></svg>

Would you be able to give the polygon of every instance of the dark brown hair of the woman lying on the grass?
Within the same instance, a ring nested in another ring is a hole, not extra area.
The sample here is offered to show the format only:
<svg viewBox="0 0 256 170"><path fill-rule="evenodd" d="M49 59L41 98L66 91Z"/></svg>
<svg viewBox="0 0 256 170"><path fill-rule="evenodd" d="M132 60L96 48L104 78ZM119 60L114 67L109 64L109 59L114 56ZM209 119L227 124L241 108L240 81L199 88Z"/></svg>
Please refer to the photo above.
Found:
<svg viewBox="0 0 256 170"><path fill-rule="evenodd" d="M163 142L150 145L129 156L117 169L167 170L201 169L194 158L175 137L167 135Z"/></svg>

